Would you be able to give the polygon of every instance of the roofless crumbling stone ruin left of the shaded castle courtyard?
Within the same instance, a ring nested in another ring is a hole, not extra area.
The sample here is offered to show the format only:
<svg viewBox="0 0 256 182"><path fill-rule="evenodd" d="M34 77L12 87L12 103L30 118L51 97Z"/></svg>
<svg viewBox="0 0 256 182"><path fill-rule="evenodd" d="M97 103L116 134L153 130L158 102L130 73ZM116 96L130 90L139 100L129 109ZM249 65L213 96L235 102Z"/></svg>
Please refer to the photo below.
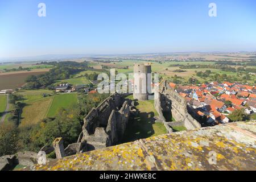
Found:
<svg viewBox="0 0 256 182"><path fill-rule="evenodd" d="M129 115L129 102L122 94L113 94L86 115L81 142L87 143L88 151L117 144L123 137Z"/></svg>

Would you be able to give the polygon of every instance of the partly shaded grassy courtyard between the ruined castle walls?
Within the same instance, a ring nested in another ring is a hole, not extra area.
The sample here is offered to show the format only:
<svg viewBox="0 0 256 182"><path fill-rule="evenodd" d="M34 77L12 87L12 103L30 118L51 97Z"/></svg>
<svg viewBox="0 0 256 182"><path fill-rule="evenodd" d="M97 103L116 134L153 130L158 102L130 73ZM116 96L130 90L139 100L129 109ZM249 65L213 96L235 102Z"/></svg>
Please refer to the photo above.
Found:
<svg viewBox="0 0 256 182"><path fill-rule="evenodd" d="M127 98L133 99L133 96L131 95ZM153 117L158 115L154 107L154 100L137 101L135 105L139 110L139 114L138 117L130 119L123 142L131 142L167 133L163 123L152 123L154 121Z"/></svg>

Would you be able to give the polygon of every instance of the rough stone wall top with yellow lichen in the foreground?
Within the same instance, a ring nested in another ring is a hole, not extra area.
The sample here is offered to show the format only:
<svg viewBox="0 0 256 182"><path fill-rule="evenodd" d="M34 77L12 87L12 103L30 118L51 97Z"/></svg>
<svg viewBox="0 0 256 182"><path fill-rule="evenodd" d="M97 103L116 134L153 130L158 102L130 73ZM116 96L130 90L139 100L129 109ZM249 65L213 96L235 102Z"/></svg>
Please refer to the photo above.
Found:
<svg viewBox="0 0 256 182"><path fill-rule="evenodd" d="M256 122L236 122L137 140L25 170L255 170ZM209 153L216 152L216 164Z"/></svg>

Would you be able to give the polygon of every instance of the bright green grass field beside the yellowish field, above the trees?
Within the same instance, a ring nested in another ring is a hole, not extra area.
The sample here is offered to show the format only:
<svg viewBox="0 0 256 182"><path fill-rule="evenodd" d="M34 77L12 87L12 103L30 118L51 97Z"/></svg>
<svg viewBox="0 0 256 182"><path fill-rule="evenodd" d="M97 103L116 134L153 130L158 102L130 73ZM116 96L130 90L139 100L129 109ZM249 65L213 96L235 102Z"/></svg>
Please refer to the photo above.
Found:
<svg viewBox="0 0 256 182"><path fill-rule="evenodd" d="M57 112L61 108L67 108L72 106L73 104L77 104L77 94L59 94L53 97L53 101L49 111L47 113L47 117L55 117Z"/></svg>

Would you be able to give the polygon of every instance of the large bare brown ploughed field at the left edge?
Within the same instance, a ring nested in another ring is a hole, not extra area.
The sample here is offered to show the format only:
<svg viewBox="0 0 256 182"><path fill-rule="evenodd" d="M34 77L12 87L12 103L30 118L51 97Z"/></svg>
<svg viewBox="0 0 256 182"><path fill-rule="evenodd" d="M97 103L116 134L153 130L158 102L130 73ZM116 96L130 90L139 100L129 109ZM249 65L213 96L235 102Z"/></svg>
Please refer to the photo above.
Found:
<svg viewBox="0 0 256 182"><path fill-rule="evenodd" d="M25 84L25 80L30 75L41 75L47 71L24 71L0 73L0 90L16 89Z"/></svg>

